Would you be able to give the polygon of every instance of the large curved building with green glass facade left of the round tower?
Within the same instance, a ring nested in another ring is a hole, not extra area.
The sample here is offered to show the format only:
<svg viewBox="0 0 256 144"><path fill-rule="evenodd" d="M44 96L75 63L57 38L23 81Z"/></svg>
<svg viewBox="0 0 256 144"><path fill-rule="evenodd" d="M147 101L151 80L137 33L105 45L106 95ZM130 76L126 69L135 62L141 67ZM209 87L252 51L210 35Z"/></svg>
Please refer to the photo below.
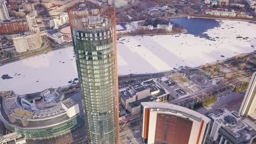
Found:
<svg viewBox="0 0 256 144"><path fill-rule="evenodd" d="M69 133L80 123L78 104L63 100L59 89L25 95L1 95L0 119L5 128L26 139L49 139ZM43 97L40 99L40 97Z"/></svg>

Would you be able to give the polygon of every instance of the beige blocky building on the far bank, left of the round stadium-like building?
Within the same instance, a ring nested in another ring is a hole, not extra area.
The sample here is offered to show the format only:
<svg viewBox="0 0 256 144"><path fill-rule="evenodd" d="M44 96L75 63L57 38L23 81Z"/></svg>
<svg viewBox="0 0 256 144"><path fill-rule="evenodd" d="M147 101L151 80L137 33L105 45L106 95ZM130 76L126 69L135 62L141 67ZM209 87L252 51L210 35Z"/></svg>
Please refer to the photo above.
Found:
<svg viewBox="0 0 256 144"><path fill-rule="evenodd" d="M13 38L16 52L26 52L39 49L42 46L42 37L40 33L26 33L25 35Z"/></svg>

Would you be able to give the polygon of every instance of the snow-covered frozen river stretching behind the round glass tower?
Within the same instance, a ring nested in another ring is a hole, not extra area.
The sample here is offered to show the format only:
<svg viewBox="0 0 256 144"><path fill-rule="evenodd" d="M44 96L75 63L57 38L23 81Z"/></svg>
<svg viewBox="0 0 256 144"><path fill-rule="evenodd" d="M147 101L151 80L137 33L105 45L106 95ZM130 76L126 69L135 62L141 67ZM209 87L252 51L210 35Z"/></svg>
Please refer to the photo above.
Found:
<svg viewBox="0 0 256 144"><path fill-rule="evenodd" d="M218 22L217 26L202 33L207 37L174 34L120 38L117 45L119 75L156 73L180 66L197 67L256 50L255 24ZM77 82L77 77L73 47L67 47L3 65L0 67L0 91L38 92Z"/></svg>

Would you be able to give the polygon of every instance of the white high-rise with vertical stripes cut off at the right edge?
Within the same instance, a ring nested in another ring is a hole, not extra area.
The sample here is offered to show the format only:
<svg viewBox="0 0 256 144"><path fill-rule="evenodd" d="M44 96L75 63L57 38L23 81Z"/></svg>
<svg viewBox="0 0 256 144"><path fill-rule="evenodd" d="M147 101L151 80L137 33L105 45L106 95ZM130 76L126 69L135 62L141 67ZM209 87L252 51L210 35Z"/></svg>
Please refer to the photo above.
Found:
<svg viewBox="0 0 256 144"><path fill-rule="evenodd" d="M256 72L253 73L249 82L239 113L242 116L256 120Z"/></svg>

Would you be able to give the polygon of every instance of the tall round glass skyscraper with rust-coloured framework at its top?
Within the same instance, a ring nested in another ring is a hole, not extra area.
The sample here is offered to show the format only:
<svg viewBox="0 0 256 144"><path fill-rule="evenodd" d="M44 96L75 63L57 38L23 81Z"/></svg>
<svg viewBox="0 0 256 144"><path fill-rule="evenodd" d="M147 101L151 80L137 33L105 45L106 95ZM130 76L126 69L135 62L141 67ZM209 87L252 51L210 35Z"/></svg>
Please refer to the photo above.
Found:
<svg viewBox="0 0 256 144"><path fill-rule="evenodd" d="M89 143L119 143L115 9L69 11Z"/></svg>

